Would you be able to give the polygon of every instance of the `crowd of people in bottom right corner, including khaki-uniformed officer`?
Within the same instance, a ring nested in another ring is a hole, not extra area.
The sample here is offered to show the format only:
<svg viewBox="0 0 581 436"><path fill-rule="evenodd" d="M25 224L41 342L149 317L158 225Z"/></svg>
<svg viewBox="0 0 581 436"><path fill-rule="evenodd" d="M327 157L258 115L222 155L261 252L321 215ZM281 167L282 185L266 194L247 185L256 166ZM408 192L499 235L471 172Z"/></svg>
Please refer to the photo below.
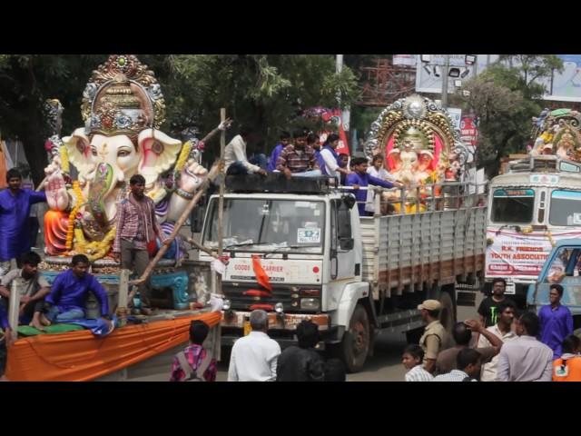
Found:
<svg viewBox="0 0 581 436"><path fill-rule="evenodd" d="M422 302L426 328L419 345L403 352L406 381L581 381L581 341L560 303L563 287L551 285L549 304L538 315L518 312L506 287L495 279L478 307L480 319L454 324L451 348L438 321L440 302Z"/></svg>

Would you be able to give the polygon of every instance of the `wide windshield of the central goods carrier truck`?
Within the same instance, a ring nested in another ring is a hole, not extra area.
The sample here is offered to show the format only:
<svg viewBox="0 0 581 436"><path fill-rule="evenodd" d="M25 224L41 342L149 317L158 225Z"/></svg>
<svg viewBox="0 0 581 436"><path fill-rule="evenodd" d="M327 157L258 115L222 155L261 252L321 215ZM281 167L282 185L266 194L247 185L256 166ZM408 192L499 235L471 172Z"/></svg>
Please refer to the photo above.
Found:
<svg viewBox="0 0 581 436"><path fill-rule="evenodd" d="M209 205L202 243L218 246L218 199ZM322 253L325 203L224 199L222 248L237 252Z"/></svg>

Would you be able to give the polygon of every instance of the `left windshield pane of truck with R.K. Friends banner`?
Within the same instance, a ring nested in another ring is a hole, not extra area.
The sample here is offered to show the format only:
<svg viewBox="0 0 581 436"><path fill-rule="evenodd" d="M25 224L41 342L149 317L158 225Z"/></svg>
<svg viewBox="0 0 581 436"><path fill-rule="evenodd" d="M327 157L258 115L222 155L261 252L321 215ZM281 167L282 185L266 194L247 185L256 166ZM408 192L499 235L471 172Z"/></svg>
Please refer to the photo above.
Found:
<svg viewBox="0 0 581 436"><path fill-rule="evenodd" d="M497 189L492 197L492 222L530 223L534 209L534 190Z"/></svg>

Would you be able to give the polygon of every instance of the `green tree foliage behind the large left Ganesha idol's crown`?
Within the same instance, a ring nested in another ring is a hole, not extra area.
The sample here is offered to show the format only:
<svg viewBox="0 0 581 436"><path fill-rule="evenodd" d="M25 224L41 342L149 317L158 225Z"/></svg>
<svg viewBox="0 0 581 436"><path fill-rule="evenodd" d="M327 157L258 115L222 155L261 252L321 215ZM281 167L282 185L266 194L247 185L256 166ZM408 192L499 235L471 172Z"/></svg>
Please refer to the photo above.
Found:
<svg viewBox="0 0 581 436"><path fill-rule="evenodd" d="M105 54L0 55L0 132L20 139L34 182L43 178L44 140L49 135L44 101L64 105L63 135L83 125L80 105L91 72ZM167 105L162 129L179 135L195 126L200 134L220 122L220 108L235 120L232 132L250 125L260 138L257 149L270 151L281 130L312 106L352 103L357 79L349 67L335 74L332 54L143 54L140 60L156 74ZM210 144L210 145L215 145ZM207 147L206 158L216 156Z"/></svg>

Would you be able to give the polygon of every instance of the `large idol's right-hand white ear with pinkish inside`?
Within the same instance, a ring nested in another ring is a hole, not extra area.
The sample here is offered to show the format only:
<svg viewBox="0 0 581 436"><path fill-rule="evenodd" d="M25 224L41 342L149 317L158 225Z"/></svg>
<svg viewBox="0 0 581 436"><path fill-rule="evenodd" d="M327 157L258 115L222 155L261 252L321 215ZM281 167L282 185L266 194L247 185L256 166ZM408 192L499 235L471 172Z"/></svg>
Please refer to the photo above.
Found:
<svg viewBox="0 0 581 436"><path fill-rule="evenodd" d="M169 170L182 148L182 141L170 138L159 130L146 129L138 137L141 160L139 173L149 185L164 171Z"/></svg>

